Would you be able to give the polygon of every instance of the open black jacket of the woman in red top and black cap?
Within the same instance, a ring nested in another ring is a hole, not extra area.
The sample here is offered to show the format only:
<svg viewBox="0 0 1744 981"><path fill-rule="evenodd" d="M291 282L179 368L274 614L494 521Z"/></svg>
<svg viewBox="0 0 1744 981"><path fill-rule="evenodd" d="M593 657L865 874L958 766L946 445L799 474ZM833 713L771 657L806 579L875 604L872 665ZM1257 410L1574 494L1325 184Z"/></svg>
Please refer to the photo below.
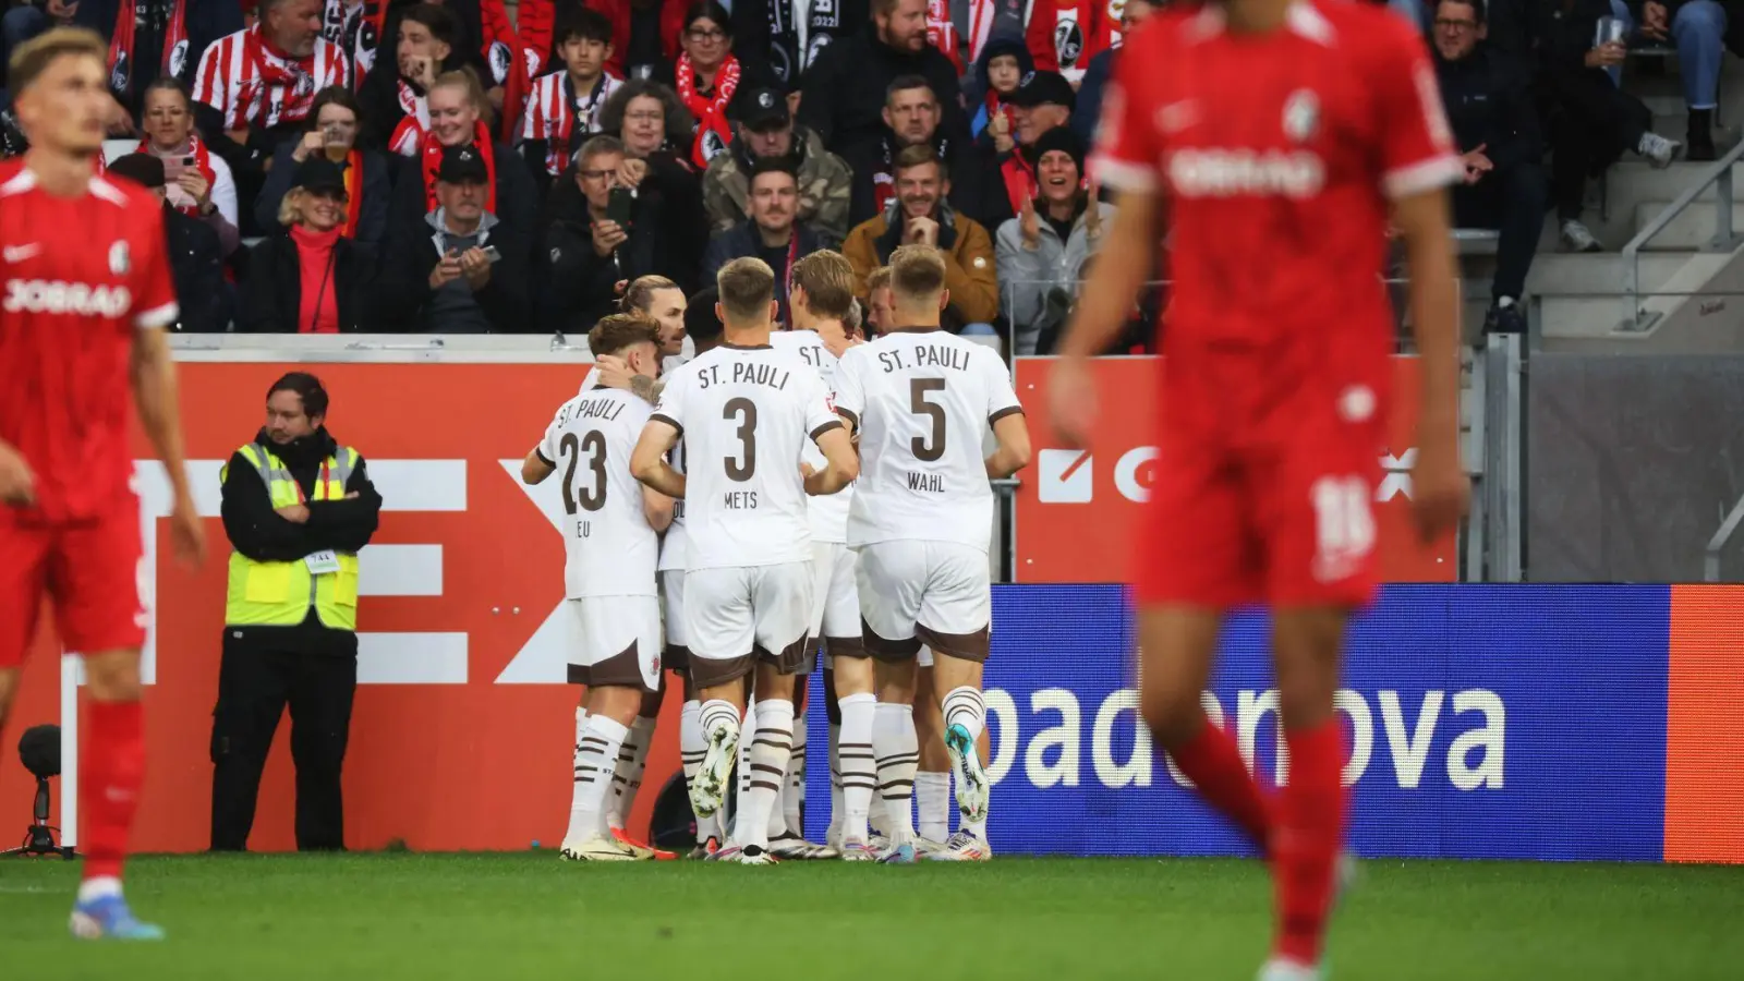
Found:
<svg viewBox="0 0 1744 981"><path fill-rule="evenodd" d="M333 297L338 300L338 328L342 333L375 333L375 246L338 239L333 243ZM242 316L239 333L298 333L302 323L302 269L296 262L296 241L290 229L269 236L255 246L248 262L248 279L242 283ZM382 297L382 304L392 302Z"/></svg>

